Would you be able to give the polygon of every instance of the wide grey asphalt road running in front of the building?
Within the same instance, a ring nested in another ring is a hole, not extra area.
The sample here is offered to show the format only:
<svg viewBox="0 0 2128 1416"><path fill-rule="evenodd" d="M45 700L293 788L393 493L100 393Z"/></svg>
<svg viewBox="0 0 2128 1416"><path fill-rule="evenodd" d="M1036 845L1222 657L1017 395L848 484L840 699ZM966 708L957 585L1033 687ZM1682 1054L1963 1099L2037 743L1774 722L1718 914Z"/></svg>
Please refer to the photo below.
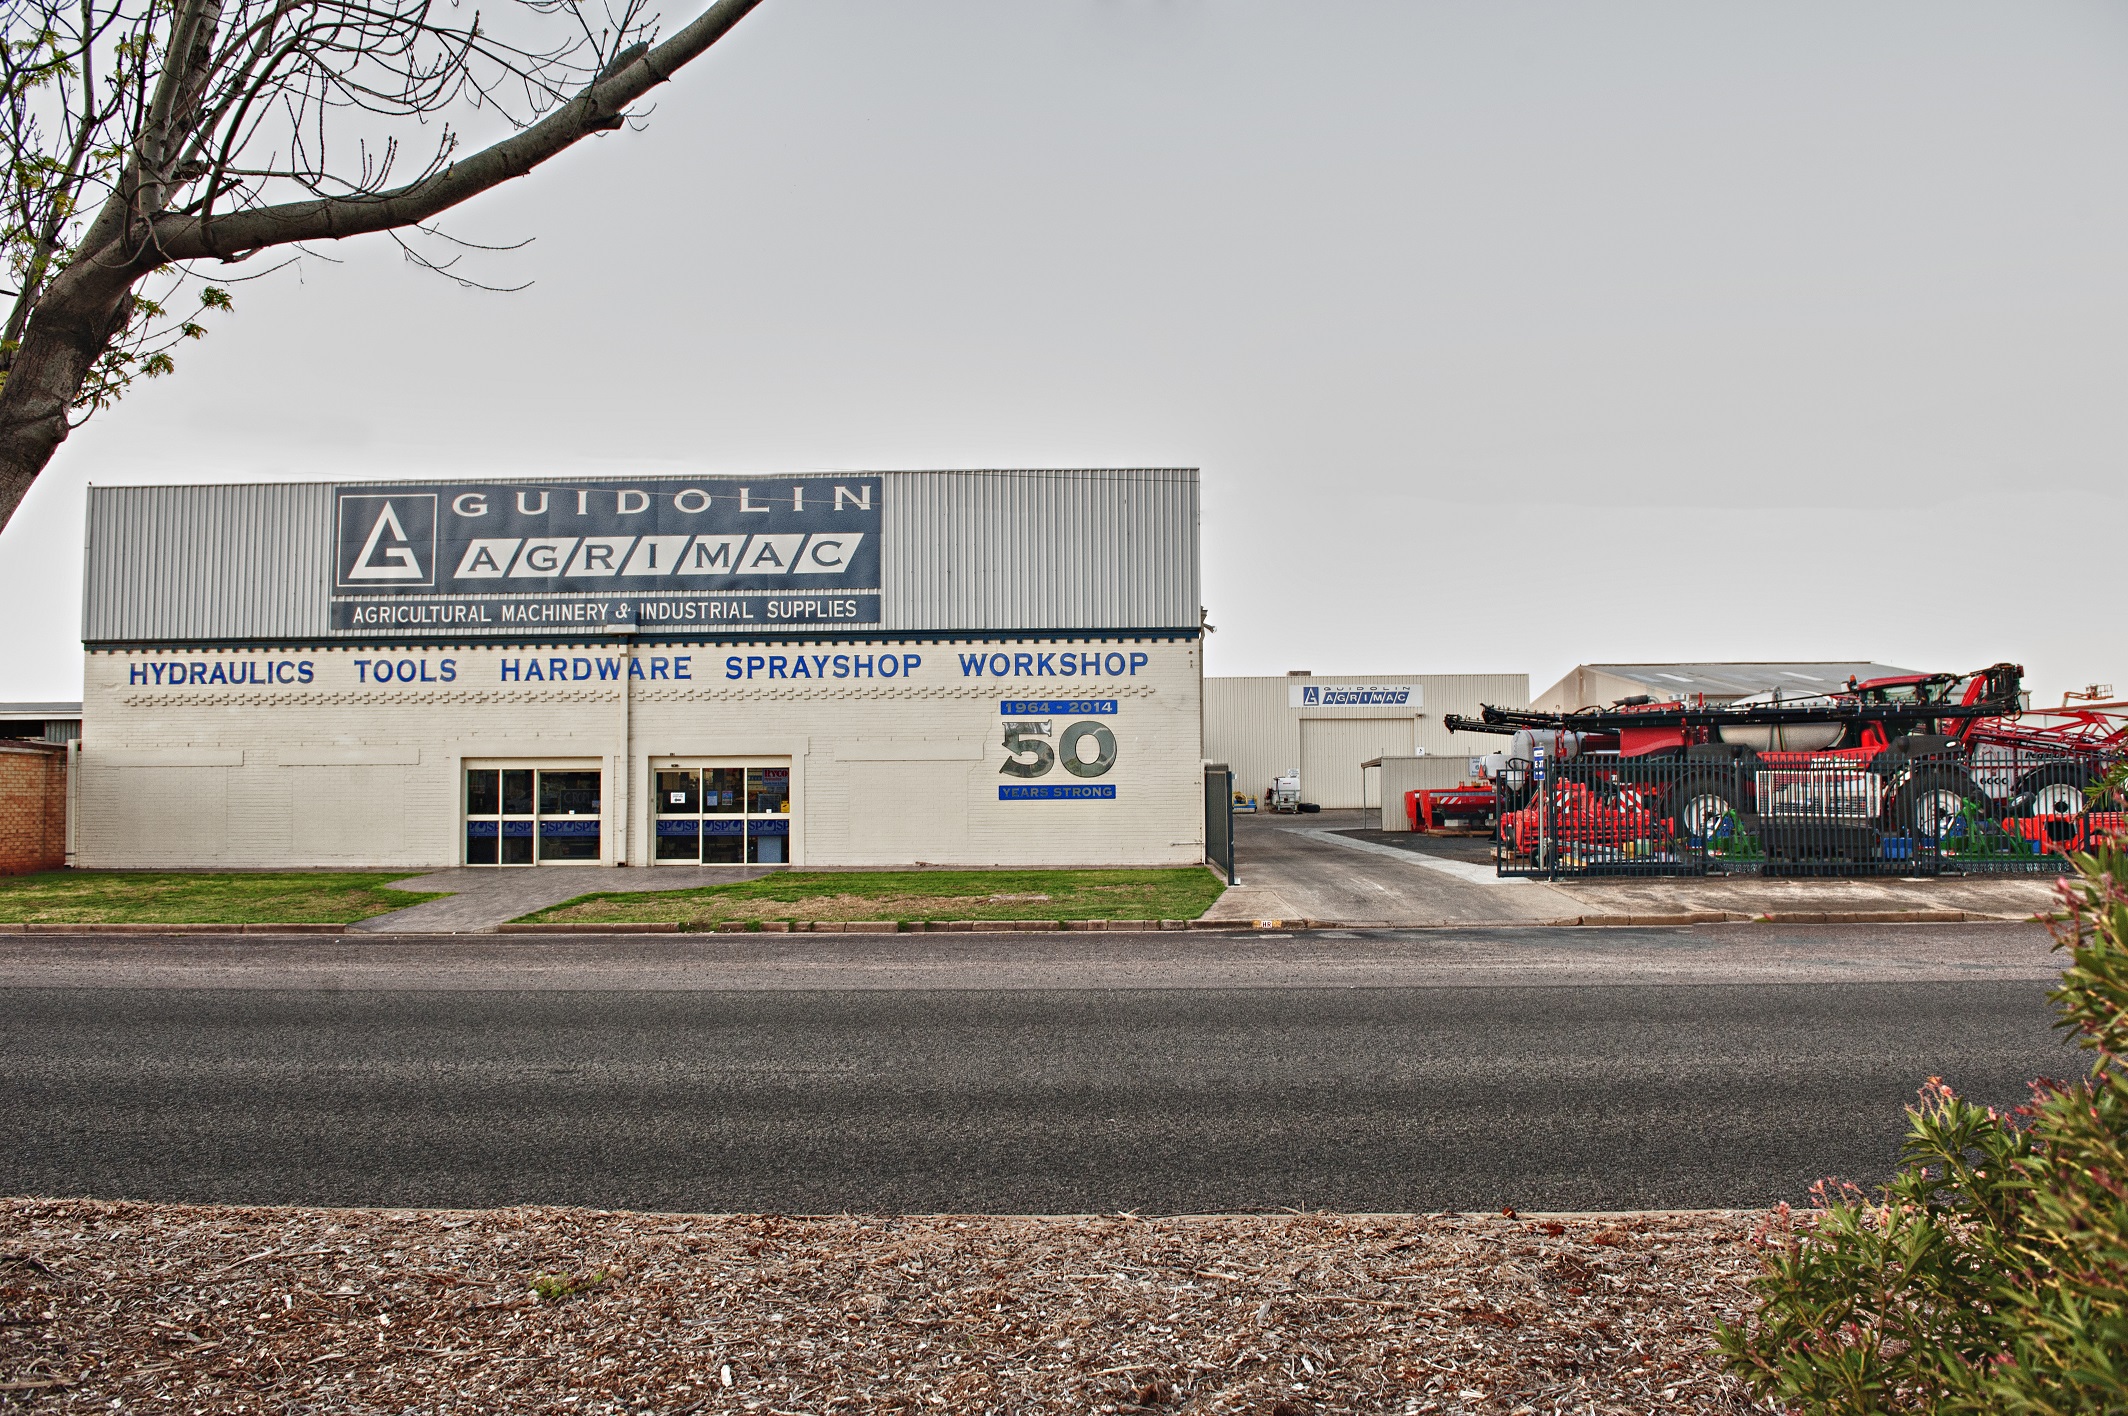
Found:
<svg viewBox="0 0 2128 1416"><path fill-rule="evenodd" d="M1826 1173L1881 1175L1928 1075L2000 1105L2077 1069L2049 1031L2043 935L1988 928L1490 931L1462 945L1470 969L1517 941L1551 962L1475 986L1441 956L1453 941L1415 935L704 941L689 948L709 962L651 988L613 967L658 948L643 939L460 941L445 977L413 943L17 939L0 950L0 1190L713 1212L1762 1205ZM926 967L941 950L945 973ZM1160 986L1119 986L1162 950ZM1577 950L1579 969L1558 965ZM1807 965L1753 973L1783 950ZM1043 986L1013 986L985 952L1047 958ZM1698 958L1690 982L1632 962L1679 952ZM1339 954L1375 962L1309 967ZM1936 956L1951 962L1915 967Z"/></svg>

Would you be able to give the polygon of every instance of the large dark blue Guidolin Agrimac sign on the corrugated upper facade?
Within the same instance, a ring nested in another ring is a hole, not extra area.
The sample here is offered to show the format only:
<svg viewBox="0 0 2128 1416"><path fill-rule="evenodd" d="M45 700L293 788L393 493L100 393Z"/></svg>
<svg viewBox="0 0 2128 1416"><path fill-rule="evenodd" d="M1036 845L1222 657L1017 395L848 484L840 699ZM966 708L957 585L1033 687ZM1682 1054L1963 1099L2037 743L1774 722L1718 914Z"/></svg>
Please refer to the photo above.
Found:
<svg viewBox="0 0 2128 1416"><path fill-rule="evenodd" d="M879 477L347 485L332 628L879 624Z"/></svg>

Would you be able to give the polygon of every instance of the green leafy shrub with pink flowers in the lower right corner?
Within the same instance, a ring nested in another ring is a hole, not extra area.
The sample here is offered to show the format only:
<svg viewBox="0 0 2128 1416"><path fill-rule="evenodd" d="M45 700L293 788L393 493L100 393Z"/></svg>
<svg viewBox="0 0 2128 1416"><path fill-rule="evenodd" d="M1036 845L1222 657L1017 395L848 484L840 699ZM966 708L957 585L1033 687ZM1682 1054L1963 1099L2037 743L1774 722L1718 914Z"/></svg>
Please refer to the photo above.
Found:
<svg viewBox="0 0 2128 1416"><path fill-rule="evenodd" d="M2107 788L2117 788L2115 771ZM1939 1077L1892 1184L1822 1182L1753 1233L1758 1312L1730 1371L1802 1412L2128 1412L2128 850L2060 886L2049 994L2092 1058L1998 1114Z"/></svg>

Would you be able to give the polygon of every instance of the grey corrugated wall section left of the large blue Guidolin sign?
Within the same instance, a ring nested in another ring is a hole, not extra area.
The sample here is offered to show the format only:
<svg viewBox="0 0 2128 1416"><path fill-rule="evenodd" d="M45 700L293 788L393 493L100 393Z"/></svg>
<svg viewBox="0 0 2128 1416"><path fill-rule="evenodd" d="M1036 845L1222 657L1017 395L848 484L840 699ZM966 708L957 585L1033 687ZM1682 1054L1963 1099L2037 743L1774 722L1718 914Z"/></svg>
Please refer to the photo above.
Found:
<svg viewBox="0 0 2128 1416"><path fill-rule="evenodd" d="M311 639L332 586L332 485L89 488L81 637Z"/></svg>

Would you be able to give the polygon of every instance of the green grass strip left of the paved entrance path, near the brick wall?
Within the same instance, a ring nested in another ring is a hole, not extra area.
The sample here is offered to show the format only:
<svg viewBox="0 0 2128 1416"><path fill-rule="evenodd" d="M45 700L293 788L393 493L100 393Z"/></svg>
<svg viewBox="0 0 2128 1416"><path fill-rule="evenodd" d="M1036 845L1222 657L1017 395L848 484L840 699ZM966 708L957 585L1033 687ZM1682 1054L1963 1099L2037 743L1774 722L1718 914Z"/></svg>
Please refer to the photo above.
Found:
<svg viewBox="0 0 2128 1416"><path fill-rule="evenodd" d="M0 875L0 924L353 924L438 899L375 871Z"/></svg>

